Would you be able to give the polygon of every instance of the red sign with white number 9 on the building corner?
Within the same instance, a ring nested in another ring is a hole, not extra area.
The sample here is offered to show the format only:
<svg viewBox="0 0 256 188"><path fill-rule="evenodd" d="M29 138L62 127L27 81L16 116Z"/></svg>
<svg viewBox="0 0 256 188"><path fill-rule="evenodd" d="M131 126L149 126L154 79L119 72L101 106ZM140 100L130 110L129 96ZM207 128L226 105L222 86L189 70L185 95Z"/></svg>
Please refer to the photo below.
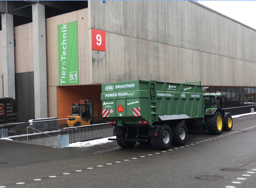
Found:
<svg viewBox="0 0 256 188"><path fill-rule="evenodd" d="M91 29L92 49L106 51L106 32Z"/></svg>

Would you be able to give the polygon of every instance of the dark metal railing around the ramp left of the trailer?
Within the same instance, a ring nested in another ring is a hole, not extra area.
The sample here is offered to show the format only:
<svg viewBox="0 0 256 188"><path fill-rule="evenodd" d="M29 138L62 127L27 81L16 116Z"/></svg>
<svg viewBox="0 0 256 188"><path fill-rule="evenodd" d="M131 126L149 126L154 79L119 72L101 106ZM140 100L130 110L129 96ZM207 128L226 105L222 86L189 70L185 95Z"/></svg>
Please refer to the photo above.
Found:
<svg viewBox="0 0 256 188"><path fill-rule="evenodd" d="M94 117L94 122L106 122L102 117ZM0 138L15 141L58 146L58 136L69 135L69 143L89 141L113 136L109 123L98 123L78 127L68 127L67 119L37 119L34 121L0 125Z"/></svg>

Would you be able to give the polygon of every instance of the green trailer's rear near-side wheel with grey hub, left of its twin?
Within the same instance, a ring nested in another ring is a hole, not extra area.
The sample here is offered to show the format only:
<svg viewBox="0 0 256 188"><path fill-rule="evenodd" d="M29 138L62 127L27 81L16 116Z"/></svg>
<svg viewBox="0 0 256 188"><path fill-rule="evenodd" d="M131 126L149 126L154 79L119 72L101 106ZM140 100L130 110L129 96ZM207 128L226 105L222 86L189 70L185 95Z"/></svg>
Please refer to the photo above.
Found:
<svg viewBox="0 0 256 188"><path fill-rule="evenodd" d="M158 125L158 136L151 137L151 144L156 149L165 150L171 146L172 134L168 125Z"/></svg>

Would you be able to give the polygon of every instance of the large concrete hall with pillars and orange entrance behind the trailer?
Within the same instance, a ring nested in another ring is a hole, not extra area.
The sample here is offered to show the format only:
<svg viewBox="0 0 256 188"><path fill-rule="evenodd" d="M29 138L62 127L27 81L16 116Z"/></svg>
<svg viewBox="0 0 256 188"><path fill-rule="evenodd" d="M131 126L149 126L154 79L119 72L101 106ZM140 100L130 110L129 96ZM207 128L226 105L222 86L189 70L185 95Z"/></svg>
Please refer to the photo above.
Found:
<svg viewBox="0 0 256 188"><path fill-rule="evenodd" d="M67 118L84 99L97 101L100 116L100 84L137 79L201 81L205 92L227 95L227 107L255 104L256 30L225 15L189 1L89 1L42 19L44 6L31 5L33 22L13 27L13 39L4 27L10 14L2 12L0 97L18 100L19 121ZM58 25L74 21L79 83L62 86ZM93 29L105 32L105 51L93 49Z"/></svg>

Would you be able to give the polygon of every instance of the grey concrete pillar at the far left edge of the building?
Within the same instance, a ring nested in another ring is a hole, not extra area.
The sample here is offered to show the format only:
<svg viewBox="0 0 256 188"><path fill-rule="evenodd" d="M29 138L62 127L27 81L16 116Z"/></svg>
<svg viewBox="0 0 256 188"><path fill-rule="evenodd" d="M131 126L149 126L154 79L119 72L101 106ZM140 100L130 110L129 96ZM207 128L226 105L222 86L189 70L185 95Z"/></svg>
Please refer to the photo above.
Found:
<svg viewBox="0 0 256 188"><path fill-rule="evenodd" d="M13 15L2 14L4 97L15 99Z"/></svg>

